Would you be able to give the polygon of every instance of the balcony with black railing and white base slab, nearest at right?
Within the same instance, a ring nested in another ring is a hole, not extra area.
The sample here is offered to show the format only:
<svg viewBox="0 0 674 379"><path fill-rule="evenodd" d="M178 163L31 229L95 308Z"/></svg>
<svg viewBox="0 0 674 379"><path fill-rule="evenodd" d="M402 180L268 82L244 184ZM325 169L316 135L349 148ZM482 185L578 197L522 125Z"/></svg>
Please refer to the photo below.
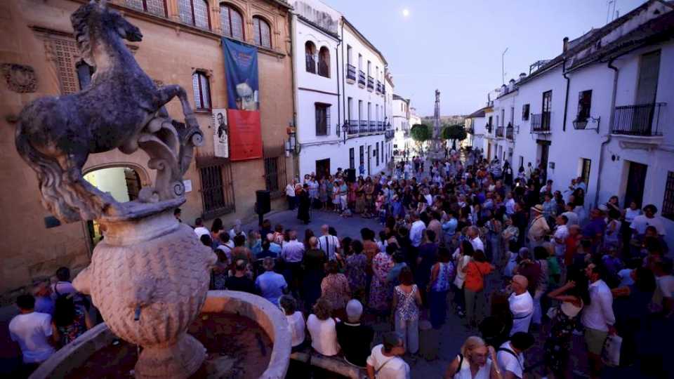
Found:
<svg viewBox="0 0 674 379"><path fill-rule="evenodd" d="M663 141L660 121L664 118L666 105L666 102L654 102L616 107L611 134L626 149L648 149L660 145Z"/></svg>

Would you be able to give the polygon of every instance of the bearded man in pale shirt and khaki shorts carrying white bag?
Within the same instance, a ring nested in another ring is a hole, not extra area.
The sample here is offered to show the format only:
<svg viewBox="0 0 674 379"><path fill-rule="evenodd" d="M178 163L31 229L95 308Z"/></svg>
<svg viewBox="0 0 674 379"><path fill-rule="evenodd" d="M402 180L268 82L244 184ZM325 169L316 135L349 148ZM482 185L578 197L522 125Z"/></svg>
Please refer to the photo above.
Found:
<svg viewBox="0 0 674 379"><path fill-rule="evenodd" d="M602 280L606 270L603 266L590 263L585 269L590 286L590 304L583 308L581 321L585 326L585 342L588 345L590 377L599 378L602 369L602 349L609 333L616 333L613 314L613 295L611 289Z"/></svg>

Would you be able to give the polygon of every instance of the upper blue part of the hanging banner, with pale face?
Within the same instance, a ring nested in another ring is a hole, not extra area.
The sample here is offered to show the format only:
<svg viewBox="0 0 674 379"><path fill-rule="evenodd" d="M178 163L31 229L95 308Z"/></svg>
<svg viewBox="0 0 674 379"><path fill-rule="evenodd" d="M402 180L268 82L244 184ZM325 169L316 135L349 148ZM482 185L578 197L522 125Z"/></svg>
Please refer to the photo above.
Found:
<svg viewBox="0 0 674 379"><path fill-rule="evenodd" d="M246 111L260 109L258 49L223 37L227 108Z"/></svg>

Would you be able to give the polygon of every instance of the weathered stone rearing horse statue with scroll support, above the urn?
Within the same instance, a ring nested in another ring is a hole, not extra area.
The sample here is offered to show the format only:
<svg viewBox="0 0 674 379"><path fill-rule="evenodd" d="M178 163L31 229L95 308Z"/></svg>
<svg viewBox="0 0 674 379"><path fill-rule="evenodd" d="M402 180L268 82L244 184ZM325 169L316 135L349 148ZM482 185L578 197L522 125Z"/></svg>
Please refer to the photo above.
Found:
<svg viewBox="0 0 674 379"><path fill-rule="evenodd" d="M139 147L157 169L154 187L141 190L140 202L184 199L182 175L203 139L185 90L157 88L122 41L140 41L143 34L105 1L80 6L70 20L81 56L95 67L91 86L34 100L22 109L15 134L18 153L37 172L43 204L63 222L133 213L84 180L82 167L89 154L131 154ZM164 109L175 97L185 124Z"/></svg>

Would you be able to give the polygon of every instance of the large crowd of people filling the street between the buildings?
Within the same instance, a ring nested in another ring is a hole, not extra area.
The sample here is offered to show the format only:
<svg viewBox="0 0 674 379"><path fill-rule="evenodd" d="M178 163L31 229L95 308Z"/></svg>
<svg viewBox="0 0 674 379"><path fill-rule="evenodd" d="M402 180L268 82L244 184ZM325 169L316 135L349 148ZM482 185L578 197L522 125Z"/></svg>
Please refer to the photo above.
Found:
<svg viewBox="0 0 674 379"><path fill-rule="evenodd" d="M666 368L654 340L671 335L674 276L657 208L621 208L612 197L586 211L586 190L583 178L556 187L541 168L515 173L479 150L451 152L401 161L389 175L351 182L339 170L286 187L305 223L318 209L377 218L381 231L364 228L359 239L329 225L302 236L269 220L244 231L238 220L227 230L220 219L210 229L197 219L194 232L218 255L211 289L262 296L286 314L293 351L340 357L370 378L409 378L403 357L418 354L420 321L439 329L448 311L475 335L446 378L524 378L531 370L568 378L574 335L584 336L597 378L616 333L621 365L640 361L644 375L659 377ZM40 312L28 300L20 297L19 317ZM390 323L390 332L372 346L374 322ZM526 364L536 343L544 360Z"/></svg>

